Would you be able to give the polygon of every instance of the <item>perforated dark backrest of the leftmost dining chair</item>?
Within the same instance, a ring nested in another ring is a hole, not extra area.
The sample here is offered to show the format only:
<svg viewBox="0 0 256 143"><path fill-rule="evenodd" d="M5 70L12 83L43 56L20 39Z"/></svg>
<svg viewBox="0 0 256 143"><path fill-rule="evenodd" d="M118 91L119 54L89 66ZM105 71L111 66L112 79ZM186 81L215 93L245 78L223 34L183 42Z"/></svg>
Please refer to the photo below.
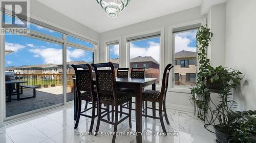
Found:
<svg viewBox="0 0 256 143"><path fill-rule="evenodd" d="M92 95L92 100L96 99L93 85L92 68L89 64L71 65L76 75L76 90L80 96L81 92L88 92Z"/></svg>

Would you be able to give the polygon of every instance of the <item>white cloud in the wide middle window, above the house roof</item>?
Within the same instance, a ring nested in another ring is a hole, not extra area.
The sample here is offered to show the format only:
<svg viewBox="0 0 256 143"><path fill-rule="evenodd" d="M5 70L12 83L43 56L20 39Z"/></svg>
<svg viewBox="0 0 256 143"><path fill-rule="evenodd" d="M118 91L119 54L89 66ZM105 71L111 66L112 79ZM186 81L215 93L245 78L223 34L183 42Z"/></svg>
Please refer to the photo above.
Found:
<svg viewBox="0 0 256 143"><path fill-rule="evenodd" d="M157 62L160 62L160 44L156 42L148 42L147 47L138 47L131 43L130 56L135 58L137 56L152 56Z"/></svg>

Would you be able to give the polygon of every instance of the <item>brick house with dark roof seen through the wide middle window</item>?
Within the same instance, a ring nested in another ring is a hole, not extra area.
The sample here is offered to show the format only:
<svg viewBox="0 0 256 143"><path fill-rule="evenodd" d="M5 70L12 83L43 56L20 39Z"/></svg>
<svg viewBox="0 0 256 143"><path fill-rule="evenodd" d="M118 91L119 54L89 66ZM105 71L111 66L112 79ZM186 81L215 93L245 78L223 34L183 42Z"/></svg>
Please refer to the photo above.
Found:
<svg viewBox="0 0 256 143"><path fill-rule="evenodd" d="M137 56L130 60L130 68L145 67L145 77L158 78L159 81L159 63L152 56Z"/></svg>

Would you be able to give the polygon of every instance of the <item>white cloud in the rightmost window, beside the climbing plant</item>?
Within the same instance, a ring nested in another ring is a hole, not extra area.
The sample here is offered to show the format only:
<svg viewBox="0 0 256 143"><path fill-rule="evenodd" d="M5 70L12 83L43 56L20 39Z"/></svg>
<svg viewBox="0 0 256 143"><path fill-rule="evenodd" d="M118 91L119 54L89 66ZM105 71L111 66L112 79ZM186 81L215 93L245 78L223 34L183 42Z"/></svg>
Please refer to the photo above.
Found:
<svg viewBox="0 0 256 143"><path fill-rule="evenodd" d="M189 47L190 39L186 37L181 37L179 35L175 35L175 52L179 52L182 50L185 51L197 51L196 47Z"/></svg>

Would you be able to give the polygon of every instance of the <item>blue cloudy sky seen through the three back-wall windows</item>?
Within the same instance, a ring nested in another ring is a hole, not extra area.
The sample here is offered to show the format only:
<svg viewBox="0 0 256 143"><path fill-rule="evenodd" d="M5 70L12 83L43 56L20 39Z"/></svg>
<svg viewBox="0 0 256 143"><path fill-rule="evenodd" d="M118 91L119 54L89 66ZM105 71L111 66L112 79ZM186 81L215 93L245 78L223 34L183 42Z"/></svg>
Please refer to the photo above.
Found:
<svg viewBox="0 0 256 143"><path fill-rule="evenodd" d="M196 30L175 34L175 53L182 50L196 52L196 34ZM131 42L130 48L131 59L137 56L152 56L160 62L159 37ZM119 58L119 45L110 46L110 58Z"/></svg>

